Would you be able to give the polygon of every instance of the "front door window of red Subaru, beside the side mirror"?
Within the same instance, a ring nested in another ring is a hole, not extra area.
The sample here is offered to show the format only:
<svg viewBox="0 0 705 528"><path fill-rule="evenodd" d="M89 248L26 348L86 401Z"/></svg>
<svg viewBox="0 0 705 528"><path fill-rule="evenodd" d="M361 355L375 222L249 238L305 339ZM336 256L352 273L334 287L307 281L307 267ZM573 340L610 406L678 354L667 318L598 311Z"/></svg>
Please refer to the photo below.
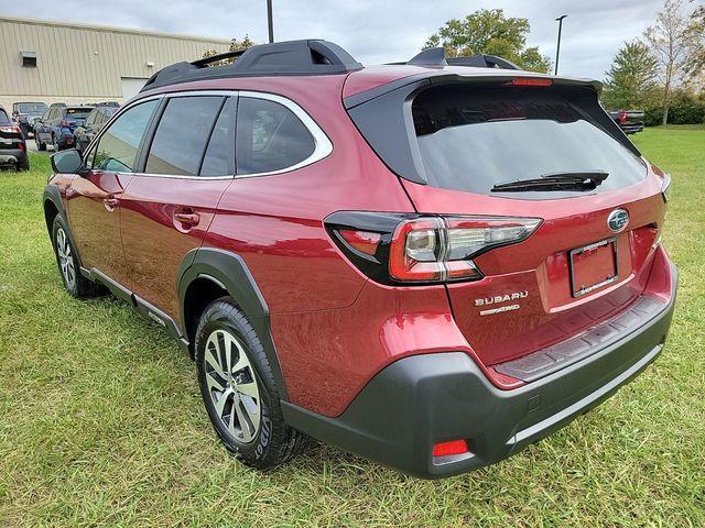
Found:
<svg viewBox="0 0 705 528"><path fill-rule="evenodd" d="M100 136L93 168L108 173L132 173L137 153L159 101L147 101L127 110Z"/></svg>

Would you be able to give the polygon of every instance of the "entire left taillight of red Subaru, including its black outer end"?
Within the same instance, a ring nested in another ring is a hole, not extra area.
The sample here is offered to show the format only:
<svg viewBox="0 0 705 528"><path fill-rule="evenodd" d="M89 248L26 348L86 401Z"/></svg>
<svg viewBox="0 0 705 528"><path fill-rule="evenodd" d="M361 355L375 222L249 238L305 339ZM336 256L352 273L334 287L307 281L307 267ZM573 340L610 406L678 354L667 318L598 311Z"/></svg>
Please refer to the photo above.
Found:
<svg viewBox="0 0 705 528"><path fill-rule="evenodd" d="M424 217L336 212L325 220L333 240L369 277L383 284L482 278L473 258L529 238L536 218Z"/></svg>

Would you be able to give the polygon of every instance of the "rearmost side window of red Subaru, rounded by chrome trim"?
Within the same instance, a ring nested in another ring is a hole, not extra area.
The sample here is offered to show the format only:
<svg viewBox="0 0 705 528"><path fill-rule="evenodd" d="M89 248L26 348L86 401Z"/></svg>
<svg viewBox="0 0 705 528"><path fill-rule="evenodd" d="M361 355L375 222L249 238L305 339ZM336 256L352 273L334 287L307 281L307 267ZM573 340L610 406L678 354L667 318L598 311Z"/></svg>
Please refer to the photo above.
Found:
<svg viewBox="0 0 705 528"><path fill-rule="evenodd" d="M315 151L311 132L290 109L250 97L238 103L236 145L238 175L293 167Z"/></svg>

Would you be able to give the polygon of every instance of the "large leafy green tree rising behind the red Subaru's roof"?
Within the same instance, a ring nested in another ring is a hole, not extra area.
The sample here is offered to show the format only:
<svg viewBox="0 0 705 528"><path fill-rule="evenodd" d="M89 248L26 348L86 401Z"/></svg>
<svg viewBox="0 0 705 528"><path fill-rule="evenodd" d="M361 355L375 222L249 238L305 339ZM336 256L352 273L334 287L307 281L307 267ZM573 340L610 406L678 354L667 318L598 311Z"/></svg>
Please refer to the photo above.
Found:
<svg viewBox="0 0 705 528"><path fill-rule="evenodd" d="M524 69L546 73L551 59L541 55L538 47L527 47L529 31L527 19L506 18L501 9L480 9L463 20L448 20L423 48L443 46L449 57L487 53Z"/></svg>

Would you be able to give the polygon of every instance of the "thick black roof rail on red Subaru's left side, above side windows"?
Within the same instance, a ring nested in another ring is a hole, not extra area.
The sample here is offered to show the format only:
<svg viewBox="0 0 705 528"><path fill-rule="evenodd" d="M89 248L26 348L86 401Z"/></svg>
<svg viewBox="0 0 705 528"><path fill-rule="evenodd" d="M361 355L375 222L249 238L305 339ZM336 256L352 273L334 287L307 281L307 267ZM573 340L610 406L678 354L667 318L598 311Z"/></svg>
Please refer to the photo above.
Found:
<svg viewBox="0 0 705 528"><path fill-rule="evenodd" d="M207 67L224 58L232 64ZM362 65L337 44L322 40L260 44L249 50L221 53L193 63L176 63L160 69L140 91L194 80L275 75L332 75L361 69Z"/></svg>

